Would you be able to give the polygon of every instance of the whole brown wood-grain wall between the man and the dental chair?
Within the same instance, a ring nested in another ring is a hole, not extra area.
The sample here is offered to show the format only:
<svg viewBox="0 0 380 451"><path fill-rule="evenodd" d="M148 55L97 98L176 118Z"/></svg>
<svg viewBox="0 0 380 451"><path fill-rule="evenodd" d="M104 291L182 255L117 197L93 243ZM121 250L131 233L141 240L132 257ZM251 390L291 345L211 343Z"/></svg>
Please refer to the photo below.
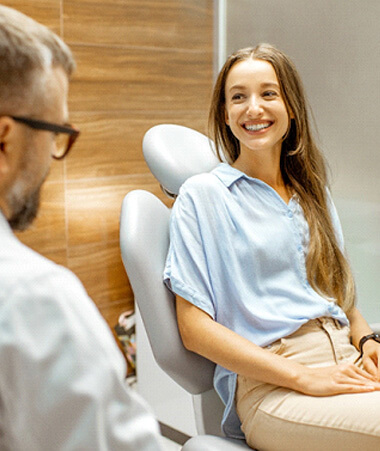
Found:
<svg viewBox="0 0 380 451"><path fill-rule="evenodd" d="M53 162L26 244L72 269L113 327L133 307L119 249L123 197L147 189L171 201L144 162L159 123L206 131L212 88L212 0L8 0L73 50L69 110L81 136Z"/></svg>

